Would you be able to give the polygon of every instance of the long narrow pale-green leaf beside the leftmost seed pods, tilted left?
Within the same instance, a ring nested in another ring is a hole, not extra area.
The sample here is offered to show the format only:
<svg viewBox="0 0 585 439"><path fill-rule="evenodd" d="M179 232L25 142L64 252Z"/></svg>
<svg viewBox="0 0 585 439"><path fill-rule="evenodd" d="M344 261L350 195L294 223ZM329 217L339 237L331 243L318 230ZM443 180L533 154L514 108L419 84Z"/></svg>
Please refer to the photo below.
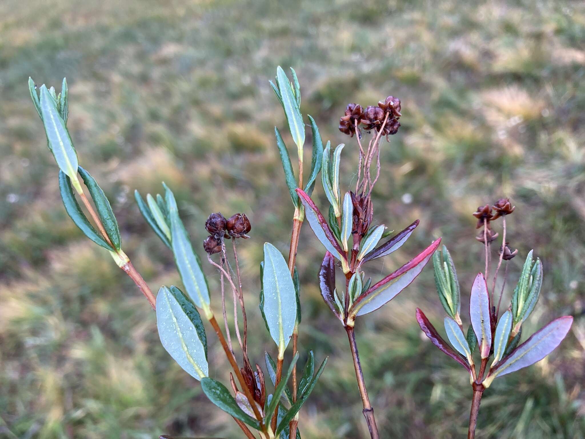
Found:
<svg viewBox="0 0 585 439"><path fill-rule="evenodd" d="M173 192L163 183L166 190L168 216L171 221L171 245L177 269L190 299L199 308L209 310L209 288L201 269L201 261L193 251L189 234L185 229L177 208Z"/></svg>

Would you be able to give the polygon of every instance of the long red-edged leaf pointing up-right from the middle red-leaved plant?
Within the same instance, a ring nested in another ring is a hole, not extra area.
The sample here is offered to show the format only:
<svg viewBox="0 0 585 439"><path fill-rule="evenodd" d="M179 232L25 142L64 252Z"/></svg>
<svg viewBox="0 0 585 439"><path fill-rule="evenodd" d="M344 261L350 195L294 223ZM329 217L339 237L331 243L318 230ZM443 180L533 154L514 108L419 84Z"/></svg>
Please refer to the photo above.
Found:
<svg viewBox="0 0 585 439"><path fill-rule="evenodd" d="M349 314L357 316L371 313L371 311L377 310L388 301L394 299L400 291L404 290L421 273L440 243L441 238L429 245L410 262L405 263L394 273L384 277L380 282L357 297L349 310Z"/></svg>

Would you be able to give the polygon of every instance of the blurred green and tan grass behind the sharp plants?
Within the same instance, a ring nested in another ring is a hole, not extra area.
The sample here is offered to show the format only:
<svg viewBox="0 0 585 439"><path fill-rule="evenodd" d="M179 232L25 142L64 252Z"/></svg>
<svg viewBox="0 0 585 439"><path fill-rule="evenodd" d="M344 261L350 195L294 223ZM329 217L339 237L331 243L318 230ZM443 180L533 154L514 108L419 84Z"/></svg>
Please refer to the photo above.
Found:
<svg viewBox="0 0 585 439"><path fill-rule="evenodd" d="M354 140L337 129L345 105L402 100L375 213L390 228L421 225L374 280L443 236L465 307L483 270L471 213L512 198L519 256L504 300L534 248L545 283L525 334L560 315L576 320L548 359L495 380L477 436L585 437L585 4L567 0L1 2L0 437L242 437L164 352L128 277L67 217L26 84L67 77L80 163L112 201L124 249L153 290L180 280L135 188L156 193L166 181L201 253L210 212L249 215L253 239L240 243L240 260L250 350L263 364L274 347L257 310L261 245L287 252L292 215L273 135L274 125L287 129L268 84L279 64L297 71L302 112L324 140L348 143L344 184L356 166ZM325 205L320 184L315 197ZM346 336L318 292L321 254L305 225L300 347L330 359L300 430L366 437ZM205 269L217 294L218 276ZM383 437L463 437L468 378L421 337L417 306L441 327L429 268L357 324L378 426ZM210 339L210 375L228 383Z"/></svg>

